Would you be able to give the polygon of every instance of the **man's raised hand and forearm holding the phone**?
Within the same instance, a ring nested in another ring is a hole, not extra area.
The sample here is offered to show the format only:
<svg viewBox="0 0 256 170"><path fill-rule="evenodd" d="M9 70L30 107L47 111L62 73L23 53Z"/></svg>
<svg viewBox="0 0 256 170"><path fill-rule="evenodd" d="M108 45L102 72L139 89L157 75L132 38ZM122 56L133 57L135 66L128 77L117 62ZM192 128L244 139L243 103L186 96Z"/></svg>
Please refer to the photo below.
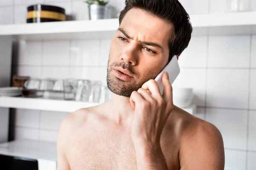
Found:
<svg viewBox="0 0 256 170"><path fill-rule="evenodd" d="M138 170L166 170L160 147L160 136L173 109L172 85L168 73L164 73L163 95L155 80L149 80L131 94L134 108L131 137L134 143ZM150 93L148 92L150 91Z"/></svg>

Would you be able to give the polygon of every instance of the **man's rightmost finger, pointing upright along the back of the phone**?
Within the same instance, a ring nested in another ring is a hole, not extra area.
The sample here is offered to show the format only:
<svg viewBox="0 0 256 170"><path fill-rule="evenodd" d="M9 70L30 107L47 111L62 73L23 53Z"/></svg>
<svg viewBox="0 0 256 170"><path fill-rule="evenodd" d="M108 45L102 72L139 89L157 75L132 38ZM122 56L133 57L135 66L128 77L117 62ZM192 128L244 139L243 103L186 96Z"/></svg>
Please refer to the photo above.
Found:
<svg viewBox="0 0 256 170"><path fill-rule="evenodd" d="M165 72L162 77L163 81L163 97L166 101L172 100L172 85L169 81L169 74Z"/></svg>

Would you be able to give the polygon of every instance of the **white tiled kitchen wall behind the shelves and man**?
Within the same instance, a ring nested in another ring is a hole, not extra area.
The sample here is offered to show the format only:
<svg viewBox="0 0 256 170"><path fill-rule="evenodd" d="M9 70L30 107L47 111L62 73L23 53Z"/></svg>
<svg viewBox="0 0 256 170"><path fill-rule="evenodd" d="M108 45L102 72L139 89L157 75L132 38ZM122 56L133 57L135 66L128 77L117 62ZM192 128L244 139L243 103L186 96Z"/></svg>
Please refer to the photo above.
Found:
<svg viewBox="0 0 256 170"><path fill-rule="evenodd" d="M223 0L181 0L189 14L224 13ZM0 0L0 24L26 23L26 6L61 6L75 20L88 20L81 0ZM111 0L117 11L124 0ZM20 41L13 74L34 78L78 78L106 84L111 39ZM256 36L192 37L179 58L173 86L192 87L201 119L214 124L224 139L226 169L256 169ZM68 113L16 109L14 139L56 142Z"/></svg>

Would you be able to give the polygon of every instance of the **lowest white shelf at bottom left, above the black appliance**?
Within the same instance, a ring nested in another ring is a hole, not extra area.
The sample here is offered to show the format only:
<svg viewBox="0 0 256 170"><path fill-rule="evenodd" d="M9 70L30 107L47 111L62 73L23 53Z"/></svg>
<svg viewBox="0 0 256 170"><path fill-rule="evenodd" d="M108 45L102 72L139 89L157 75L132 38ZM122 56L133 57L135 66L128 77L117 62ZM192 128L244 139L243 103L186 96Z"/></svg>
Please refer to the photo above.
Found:
<svg viewBox="0 0 256 170"><path fill-rule="evenodd" d="M0 155L57 161L56 143L17 140L0 144Z"/></svg>

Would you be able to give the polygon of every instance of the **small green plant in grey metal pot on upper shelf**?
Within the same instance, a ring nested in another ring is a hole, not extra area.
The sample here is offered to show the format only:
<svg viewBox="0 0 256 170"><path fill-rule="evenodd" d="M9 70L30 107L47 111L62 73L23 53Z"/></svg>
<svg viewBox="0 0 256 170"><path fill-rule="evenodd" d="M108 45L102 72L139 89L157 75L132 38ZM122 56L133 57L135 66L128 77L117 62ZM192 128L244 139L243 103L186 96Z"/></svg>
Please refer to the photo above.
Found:
<svg viewBox="0 0 256 170"><path fill-rule="evenodd" d="M88 4L89 19L100 20L108 18L108 1L106 0L86 0Z"/></svg>

